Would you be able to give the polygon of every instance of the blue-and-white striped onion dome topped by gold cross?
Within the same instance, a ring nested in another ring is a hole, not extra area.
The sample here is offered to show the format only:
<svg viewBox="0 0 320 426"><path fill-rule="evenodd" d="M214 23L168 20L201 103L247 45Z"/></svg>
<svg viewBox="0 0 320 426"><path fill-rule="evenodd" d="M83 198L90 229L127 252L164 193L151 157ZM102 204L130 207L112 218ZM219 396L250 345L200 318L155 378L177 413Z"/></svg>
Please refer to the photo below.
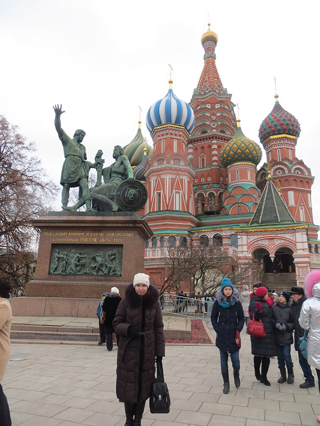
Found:
<svg viewBox="0 0 320 426"><path fill-rule="evenodd" d="M155 127L164 125L183 126L190 133L194 126L194 114L192 108L177 98L172 91L172 80L169 80L169 91L164 98L155 102L149 108L146 124L151 133Z"/></svg>

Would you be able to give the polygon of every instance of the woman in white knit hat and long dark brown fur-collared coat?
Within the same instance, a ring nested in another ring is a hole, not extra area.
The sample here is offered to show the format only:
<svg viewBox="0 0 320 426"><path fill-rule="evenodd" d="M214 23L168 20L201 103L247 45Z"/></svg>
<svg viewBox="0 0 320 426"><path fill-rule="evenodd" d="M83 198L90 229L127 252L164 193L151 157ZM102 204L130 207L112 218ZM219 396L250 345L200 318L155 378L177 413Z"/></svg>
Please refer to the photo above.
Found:
<svg viewBox="0 0 320 426"><path fill-rule="evenodd" d="M125 426L141 426L155 381L155 357L164 356L159 293L149 276L136 274L118 306L113 327L120 335L116 393L125 403Z"/></svg>

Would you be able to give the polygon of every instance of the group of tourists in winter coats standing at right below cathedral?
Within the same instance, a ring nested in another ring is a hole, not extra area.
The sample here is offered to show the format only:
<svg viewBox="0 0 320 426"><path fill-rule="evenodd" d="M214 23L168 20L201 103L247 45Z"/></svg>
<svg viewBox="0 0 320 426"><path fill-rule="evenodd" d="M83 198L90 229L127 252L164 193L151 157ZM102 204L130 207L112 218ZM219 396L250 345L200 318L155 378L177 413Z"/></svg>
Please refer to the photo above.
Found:
<svg viewBox="0 0 320 426"><path fill-rule="evenodd" d="M244 285L240 293L228 278L224 278L215 296L217 300L213 305L211 322L217 333L216 346L220 350L224 394L230 389L229 355L234 385L236 388L241 385L240 332L245 323L251 339L256 380L265 386L271 385L267 378L270 358L277 357L280 372L278 383L292 384L291 345L294 343L305 377L299 387L315 387L311 370L314 367L320 393L320 270L310 272L303 287L293 286L291 291L284 290L279 295L261 284L253 285L252 292ZM303 341L307 341L307 348ZM317 420L320 423L320 416Z"/></svg>

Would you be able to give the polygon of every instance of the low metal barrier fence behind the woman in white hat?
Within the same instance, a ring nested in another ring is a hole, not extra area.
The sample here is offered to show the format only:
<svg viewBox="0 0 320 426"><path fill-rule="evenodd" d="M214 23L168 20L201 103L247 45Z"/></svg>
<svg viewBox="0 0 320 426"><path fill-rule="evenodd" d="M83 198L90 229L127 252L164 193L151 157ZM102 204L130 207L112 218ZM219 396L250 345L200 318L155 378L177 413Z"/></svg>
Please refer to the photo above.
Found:
<svg viewBox="0 0 320 426"><path fill-rule="evenodd" d="M159 302L162 312L210 322L213 302L170 294L161 295Z"/></svg>

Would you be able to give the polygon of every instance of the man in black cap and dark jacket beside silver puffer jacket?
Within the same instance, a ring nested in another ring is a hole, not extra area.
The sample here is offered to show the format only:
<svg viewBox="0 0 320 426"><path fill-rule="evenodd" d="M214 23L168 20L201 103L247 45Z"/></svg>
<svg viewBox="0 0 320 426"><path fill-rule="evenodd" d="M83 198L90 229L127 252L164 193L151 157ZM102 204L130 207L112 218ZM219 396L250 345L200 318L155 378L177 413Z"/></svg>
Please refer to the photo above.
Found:
<svg viewBox="0 0 320 426"><path fill-rule="evenodd" d="M307 300L307 297L304 294L303 288L298 285L291 288L290 294L293 299L292 314L294 322L294 349L298 351L299 364L305 377L305 382L301 383L299 387L303 389L313 388L315 386L315 378L312 374L308 361L299 350L299 338L302 337L304 333L303 328L299 325L299 316L302 304L305 300Z"/></svg>

